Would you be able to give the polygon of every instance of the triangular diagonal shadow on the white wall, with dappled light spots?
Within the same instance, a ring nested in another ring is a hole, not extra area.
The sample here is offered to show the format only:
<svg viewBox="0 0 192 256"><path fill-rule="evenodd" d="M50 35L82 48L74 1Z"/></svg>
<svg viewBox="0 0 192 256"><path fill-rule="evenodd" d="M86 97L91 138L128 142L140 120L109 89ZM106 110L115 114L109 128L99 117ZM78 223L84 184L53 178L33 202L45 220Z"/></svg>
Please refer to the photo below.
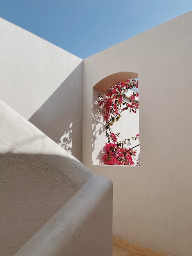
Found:
<svg viewBox="0 0 192 256"><path fill-rule="evenodd" d="M29 121L81 160L83 61Z"/></svg>

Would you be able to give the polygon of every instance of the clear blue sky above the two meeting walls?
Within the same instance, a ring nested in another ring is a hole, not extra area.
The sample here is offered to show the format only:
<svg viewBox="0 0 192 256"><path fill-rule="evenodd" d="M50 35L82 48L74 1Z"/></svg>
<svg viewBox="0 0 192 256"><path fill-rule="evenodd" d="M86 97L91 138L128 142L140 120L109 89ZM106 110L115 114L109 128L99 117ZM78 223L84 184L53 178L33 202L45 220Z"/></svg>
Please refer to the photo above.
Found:
<svg viewBox="0 0 192 256"><path fill-rule="evenodd" d="M87 58L192 11L192 0L0 0L0 17Z"/></svg>

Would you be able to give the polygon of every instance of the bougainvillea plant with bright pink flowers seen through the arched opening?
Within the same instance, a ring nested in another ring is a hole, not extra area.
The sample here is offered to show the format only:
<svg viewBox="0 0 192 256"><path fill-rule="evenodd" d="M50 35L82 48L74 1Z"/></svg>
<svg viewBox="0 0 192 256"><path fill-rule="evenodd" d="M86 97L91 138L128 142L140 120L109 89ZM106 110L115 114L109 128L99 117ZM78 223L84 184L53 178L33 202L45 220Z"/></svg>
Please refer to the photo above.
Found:
<svg viewBox="0 0 192 256"><path fill-rule="evenodd" d="M103 156L104 164L111 165L140 165L139 159L135 159L138 145L130 148L128 145L131 140L139 141L139 134L135 137L117 141L120 133L113 133L112 126L121 118L121 113L125 110L136 113L138 110L138 80L131 79L121 81L110 88L104 95L98 94L98 104L100 111L105 116L105 132L107 141L105 144L105 155ZM128 102L124 97L128 90L132 94ZM127 146L126 146L127 145Z"/></svg>

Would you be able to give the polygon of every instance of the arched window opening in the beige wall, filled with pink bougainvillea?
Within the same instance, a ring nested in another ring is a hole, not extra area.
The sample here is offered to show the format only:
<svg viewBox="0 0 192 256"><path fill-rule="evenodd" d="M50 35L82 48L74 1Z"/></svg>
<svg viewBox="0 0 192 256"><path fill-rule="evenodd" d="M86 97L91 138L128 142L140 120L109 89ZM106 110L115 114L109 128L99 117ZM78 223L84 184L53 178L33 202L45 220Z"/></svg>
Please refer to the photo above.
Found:
<svg viewBox="0 0 192 256"><path fill-rule="evenodd" d="M128 74L128 79L108 88L107 78L103 79L101 88L108 89L105 93L97 90L98 84L94 87L93 164L140 165L138 79L133 79L136 73L117 74L122 73Z"/></svg>

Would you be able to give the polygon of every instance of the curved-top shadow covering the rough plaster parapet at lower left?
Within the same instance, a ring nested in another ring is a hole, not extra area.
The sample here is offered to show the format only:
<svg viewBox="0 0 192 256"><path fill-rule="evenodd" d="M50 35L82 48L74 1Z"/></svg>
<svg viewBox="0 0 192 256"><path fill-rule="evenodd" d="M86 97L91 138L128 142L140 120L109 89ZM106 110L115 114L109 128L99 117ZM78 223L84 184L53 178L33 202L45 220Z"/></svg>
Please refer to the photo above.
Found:
<svg viewBox="0 0 192 256"><path fill-rule="evenodd" d="M90 171L58 155L9 152L0 154L0 163L0 255L14 255L80 189Z"/></svg>

